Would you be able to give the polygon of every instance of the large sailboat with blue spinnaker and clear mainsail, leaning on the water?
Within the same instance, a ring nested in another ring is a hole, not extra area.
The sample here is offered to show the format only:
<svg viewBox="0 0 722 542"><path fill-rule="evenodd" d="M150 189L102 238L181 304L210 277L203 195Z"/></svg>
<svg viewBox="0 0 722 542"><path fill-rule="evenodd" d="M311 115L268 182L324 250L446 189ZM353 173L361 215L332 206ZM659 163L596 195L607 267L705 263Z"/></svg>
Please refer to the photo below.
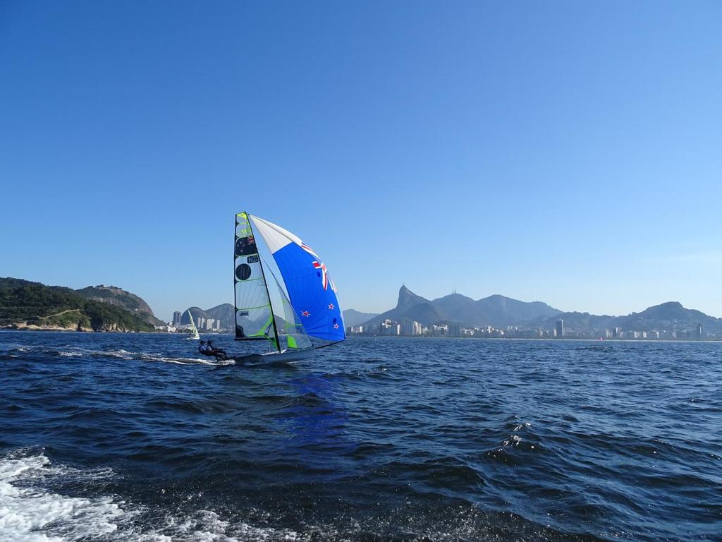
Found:
<svg viewBox="0 0 722 542"><path fill-rule="evenodd" d="M256 236L260 235L260 238ZM258 254L263 240L280 279ZM326 264L290 231L248 212L235 215L235 340L261 340L271 351L241 363L300 361L346 338L339 299ZM284 288L285 287L285 288ZM271 291L283 318L274 316ZM279 301L276 301L278 304ZM314 342L316 340L316 342Z"/></svg>

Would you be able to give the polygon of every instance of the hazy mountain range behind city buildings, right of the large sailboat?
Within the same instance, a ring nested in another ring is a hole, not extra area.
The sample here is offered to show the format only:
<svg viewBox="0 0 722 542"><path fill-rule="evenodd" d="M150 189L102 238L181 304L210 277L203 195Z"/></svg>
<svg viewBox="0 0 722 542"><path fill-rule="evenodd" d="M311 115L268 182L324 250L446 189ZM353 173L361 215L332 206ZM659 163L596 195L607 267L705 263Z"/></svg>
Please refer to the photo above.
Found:
<svg viewBox="0 0 722 542"><path fill-rule="evenodd" d="M353 309L349 309L353 311ZM344 320L349 311L344 311ZM363 314L353 311L352 314ZM722 319L710 317L701 311L686 309L677 301L669 301L651 306L640 313L627 316L597 316L587 312L562 312L541 301L518 301L517 299L495 295L479 300L452 293L437 299L418 296L402 285L396 307L378 314L365 322L368 326L378 326L385 319L395 322L415 320L425 326L431 324L458 323L466 327L492 326L505 328L519 326L553 329L558 319L564 320L567 330L589 331L621 327L624 330L692 330L697 324L710 332L722 332ZM349 318L349 323L355 321Z"/></svg>

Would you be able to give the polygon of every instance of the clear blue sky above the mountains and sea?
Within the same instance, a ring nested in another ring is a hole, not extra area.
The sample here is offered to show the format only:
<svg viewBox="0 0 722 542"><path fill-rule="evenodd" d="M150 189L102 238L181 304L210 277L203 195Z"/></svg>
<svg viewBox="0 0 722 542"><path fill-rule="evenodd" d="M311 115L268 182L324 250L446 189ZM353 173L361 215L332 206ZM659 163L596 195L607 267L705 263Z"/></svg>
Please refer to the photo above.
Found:
<svg viewBox="0 0 722 542"><path fill-rule="evenodd" d="M0 2L0 276L231 301L250 210L401 283L722 317L722 3Z"/></svg>

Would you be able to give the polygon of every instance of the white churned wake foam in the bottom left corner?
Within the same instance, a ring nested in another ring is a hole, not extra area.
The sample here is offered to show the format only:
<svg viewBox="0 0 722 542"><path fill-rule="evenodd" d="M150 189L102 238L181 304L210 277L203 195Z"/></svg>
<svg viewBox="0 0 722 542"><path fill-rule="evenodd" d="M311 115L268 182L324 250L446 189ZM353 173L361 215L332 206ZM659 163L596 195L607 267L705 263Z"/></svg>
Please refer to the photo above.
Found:
<svg viewBox="0 0 722 542"><path fill-rule="evenodd" d="M59 479L93 481L112 470L79 470L51 463L42 452L15 450L0 457L2 542L246 542L297 541L298 533L227 522L216 512L165 515L160 525L144 520L147 509L118 496L67 496L48 489Z"/></svg>

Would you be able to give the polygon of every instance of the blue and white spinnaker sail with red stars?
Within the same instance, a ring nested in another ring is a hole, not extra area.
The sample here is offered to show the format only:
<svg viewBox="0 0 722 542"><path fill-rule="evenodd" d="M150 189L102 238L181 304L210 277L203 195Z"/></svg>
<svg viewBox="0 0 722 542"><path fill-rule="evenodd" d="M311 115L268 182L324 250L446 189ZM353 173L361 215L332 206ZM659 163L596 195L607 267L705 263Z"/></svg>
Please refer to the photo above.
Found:
<svg viewBox="0 0 722 542"><path fill-rule="evenodd" d="M286 285L298 322L311 337L346 338L339 299L326 264L290 231L253 215L253 227L266 241Z"/></svg>

